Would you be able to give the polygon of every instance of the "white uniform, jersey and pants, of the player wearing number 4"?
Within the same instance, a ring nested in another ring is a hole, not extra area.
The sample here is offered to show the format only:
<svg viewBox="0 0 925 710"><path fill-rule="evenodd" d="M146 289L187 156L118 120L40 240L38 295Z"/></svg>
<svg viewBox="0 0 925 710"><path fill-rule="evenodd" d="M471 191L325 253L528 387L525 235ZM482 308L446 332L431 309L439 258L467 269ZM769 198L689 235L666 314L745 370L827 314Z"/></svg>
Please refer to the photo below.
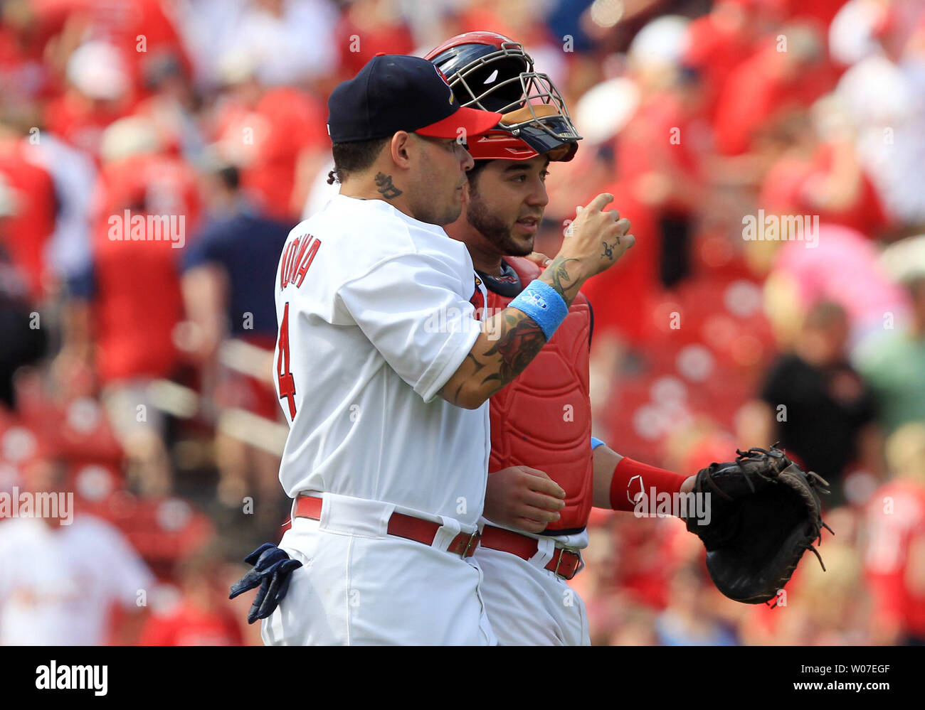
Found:
<svg viewBox="0 0 925 710"><path fill-rule="evenodd" d="M478 337L475 288L461 242L388 202L337 195L290 233L275 285L279 480L324 504L279 543L302 567L264 643L496 642L481 570L446 552L475 530L487 483L487 404L437 396ZM433 543L389 535L395 511L437 521Z"/></svg>

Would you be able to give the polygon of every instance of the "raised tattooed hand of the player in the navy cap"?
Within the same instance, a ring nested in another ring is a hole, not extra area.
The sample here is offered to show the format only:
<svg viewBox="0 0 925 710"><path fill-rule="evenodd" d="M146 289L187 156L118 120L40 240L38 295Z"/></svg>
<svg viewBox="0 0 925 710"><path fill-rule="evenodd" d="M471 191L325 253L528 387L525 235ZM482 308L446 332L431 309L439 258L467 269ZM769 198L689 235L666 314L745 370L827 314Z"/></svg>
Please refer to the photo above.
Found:
<svg viewBox="0 0 925 710"><path fill-rule="evenodd" d="M635 244L635 237L627 234L630 221L615 210L604 209L610 202L613 195L602 192L586 207L579 208L557 254L577 259L585 278L609 269Z"/></svg>

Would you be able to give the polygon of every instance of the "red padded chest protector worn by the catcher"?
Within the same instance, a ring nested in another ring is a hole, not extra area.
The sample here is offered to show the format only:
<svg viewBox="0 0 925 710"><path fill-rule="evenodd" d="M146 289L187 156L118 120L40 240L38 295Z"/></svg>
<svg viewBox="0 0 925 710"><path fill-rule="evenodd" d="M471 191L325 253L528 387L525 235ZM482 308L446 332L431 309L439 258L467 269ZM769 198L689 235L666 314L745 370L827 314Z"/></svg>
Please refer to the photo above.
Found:
<svg viewBox="0 0 925 710"><path fill-rule="evenodd" d="M529 284L541 269L527 259L505 259ZM488 288L488 313L506 308L512 297ZM578 294L565 320L536 358L490 401L491 458L488 471L529 466L545 471L565 489L561 518L547 532L579 532L592 502L591 402L588 349L591 309Z"/></svg>

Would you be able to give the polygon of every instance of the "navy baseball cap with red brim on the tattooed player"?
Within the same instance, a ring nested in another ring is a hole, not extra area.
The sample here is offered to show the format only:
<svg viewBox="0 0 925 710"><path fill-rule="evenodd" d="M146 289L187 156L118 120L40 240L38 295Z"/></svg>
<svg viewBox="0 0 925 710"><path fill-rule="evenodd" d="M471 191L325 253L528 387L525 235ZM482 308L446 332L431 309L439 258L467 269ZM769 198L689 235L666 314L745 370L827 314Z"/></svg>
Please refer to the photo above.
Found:
<svg viewBox="0 0 925 710"><path fill-rule="evenodd" d="M334 143L388 138L399 130L433 138L478 136L501 115L463 108L440 70L426 59L376 55L327 100L327 133Z"/></svg>

